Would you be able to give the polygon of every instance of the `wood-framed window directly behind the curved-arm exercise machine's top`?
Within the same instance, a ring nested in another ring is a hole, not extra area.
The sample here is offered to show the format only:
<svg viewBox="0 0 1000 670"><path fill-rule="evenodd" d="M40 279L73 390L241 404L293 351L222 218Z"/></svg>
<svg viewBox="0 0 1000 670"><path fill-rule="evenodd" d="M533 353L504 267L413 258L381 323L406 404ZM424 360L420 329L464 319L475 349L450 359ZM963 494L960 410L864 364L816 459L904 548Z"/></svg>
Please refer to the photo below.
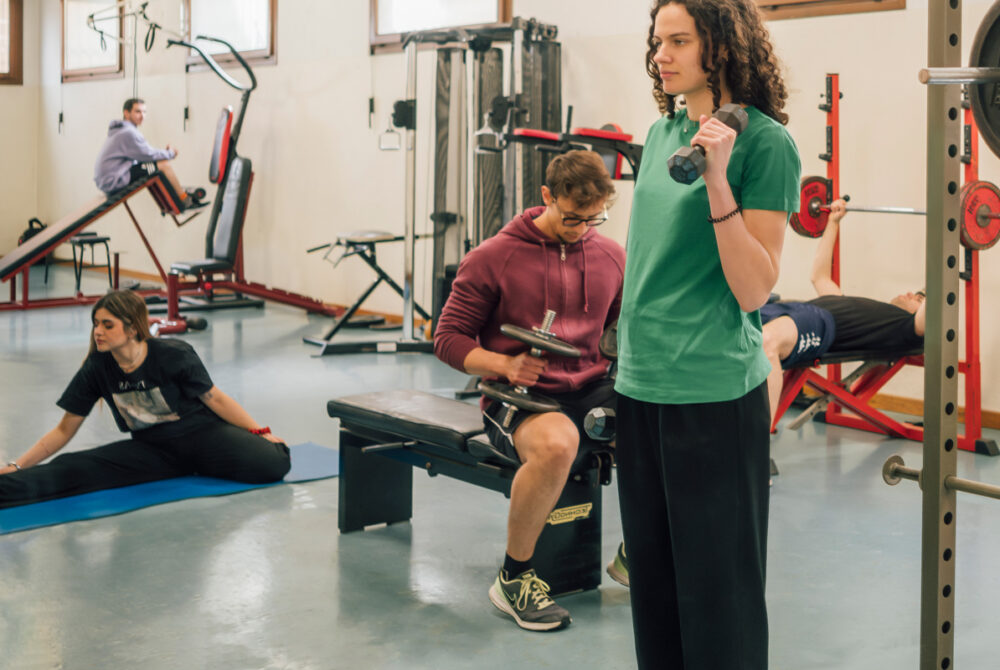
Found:
<svg viewBox="0 0 1000 670"><path fill-rule="evenodd" d="M184 20L191 41L198 35L232 44L248 63L276 63L278 0L184 0ZM220 63L232 62L229 50L213 42L197 42ZM203 65L196 53L188 65Z"/></svg>

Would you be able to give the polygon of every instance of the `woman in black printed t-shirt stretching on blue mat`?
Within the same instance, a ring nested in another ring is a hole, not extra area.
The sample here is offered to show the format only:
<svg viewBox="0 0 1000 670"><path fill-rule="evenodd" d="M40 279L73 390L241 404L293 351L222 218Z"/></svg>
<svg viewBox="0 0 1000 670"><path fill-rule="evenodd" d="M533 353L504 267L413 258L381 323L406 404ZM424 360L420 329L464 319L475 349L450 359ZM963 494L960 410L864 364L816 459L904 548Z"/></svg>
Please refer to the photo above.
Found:
<svg viewBox="0 0 1000 670"><path fill-rule="evenodd" d="M142 298L110 291L91 311L90 353L56 403L59 425L0 468L0 508L206 475L261 484L288 472L288 447L212 383L181 340L150 335ZM63 454L94 403L107 402L128 440Z"/></svg>

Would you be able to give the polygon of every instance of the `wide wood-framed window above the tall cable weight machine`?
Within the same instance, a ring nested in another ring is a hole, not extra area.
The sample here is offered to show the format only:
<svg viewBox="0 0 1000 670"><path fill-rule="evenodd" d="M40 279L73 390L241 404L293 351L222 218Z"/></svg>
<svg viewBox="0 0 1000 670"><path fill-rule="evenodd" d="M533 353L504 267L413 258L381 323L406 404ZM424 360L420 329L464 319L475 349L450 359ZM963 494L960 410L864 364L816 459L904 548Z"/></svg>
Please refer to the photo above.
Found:
<svg viewBox="0 0 1000 670"><path fill-rule="evenodd" d="M414 30L456 28L511 20L511 0L370 0L372 51L399 48L399 36Z"/></svg>

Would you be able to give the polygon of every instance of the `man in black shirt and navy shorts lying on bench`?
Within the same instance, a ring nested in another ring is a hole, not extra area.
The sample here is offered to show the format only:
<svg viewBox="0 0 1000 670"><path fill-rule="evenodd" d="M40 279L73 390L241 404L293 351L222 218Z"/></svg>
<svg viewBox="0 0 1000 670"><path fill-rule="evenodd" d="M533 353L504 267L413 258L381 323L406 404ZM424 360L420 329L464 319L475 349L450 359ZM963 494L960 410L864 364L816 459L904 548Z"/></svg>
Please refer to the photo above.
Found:
<svg viewBox="0 0 1000 670"><path fill-rule="evenodd" d="M835 200L816 248L812 280L818 298L774 302L760 308L764 352L771 361L767 378L771 421L781 396L782 368L809 365L826 353L905 352L924 344L926 305L923 290L889 302L845 296L833 281L833 249L847 203Z"/></svg>

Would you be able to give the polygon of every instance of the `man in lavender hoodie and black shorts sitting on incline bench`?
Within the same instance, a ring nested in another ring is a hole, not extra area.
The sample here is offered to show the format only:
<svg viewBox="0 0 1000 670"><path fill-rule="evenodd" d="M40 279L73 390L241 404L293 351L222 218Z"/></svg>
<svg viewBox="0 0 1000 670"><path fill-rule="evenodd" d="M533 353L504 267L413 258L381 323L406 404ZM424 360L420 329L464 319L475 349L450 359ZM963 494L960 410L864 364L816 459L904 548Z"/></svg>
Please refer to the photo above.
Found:
<svg viewBox="0 0 1000 670"><path fill-rule="evenodd" d="M196 199L181 186L170 165L170 161L177 158L177 148L168 144L165 149L154 149L139 132L145 118L145 101L129 98L122 106L122 118L108 124L108 137L94 165L97 188L110 195L160 171L180 199L177 204L181 211L204 207L207 203Z"/></svg>

